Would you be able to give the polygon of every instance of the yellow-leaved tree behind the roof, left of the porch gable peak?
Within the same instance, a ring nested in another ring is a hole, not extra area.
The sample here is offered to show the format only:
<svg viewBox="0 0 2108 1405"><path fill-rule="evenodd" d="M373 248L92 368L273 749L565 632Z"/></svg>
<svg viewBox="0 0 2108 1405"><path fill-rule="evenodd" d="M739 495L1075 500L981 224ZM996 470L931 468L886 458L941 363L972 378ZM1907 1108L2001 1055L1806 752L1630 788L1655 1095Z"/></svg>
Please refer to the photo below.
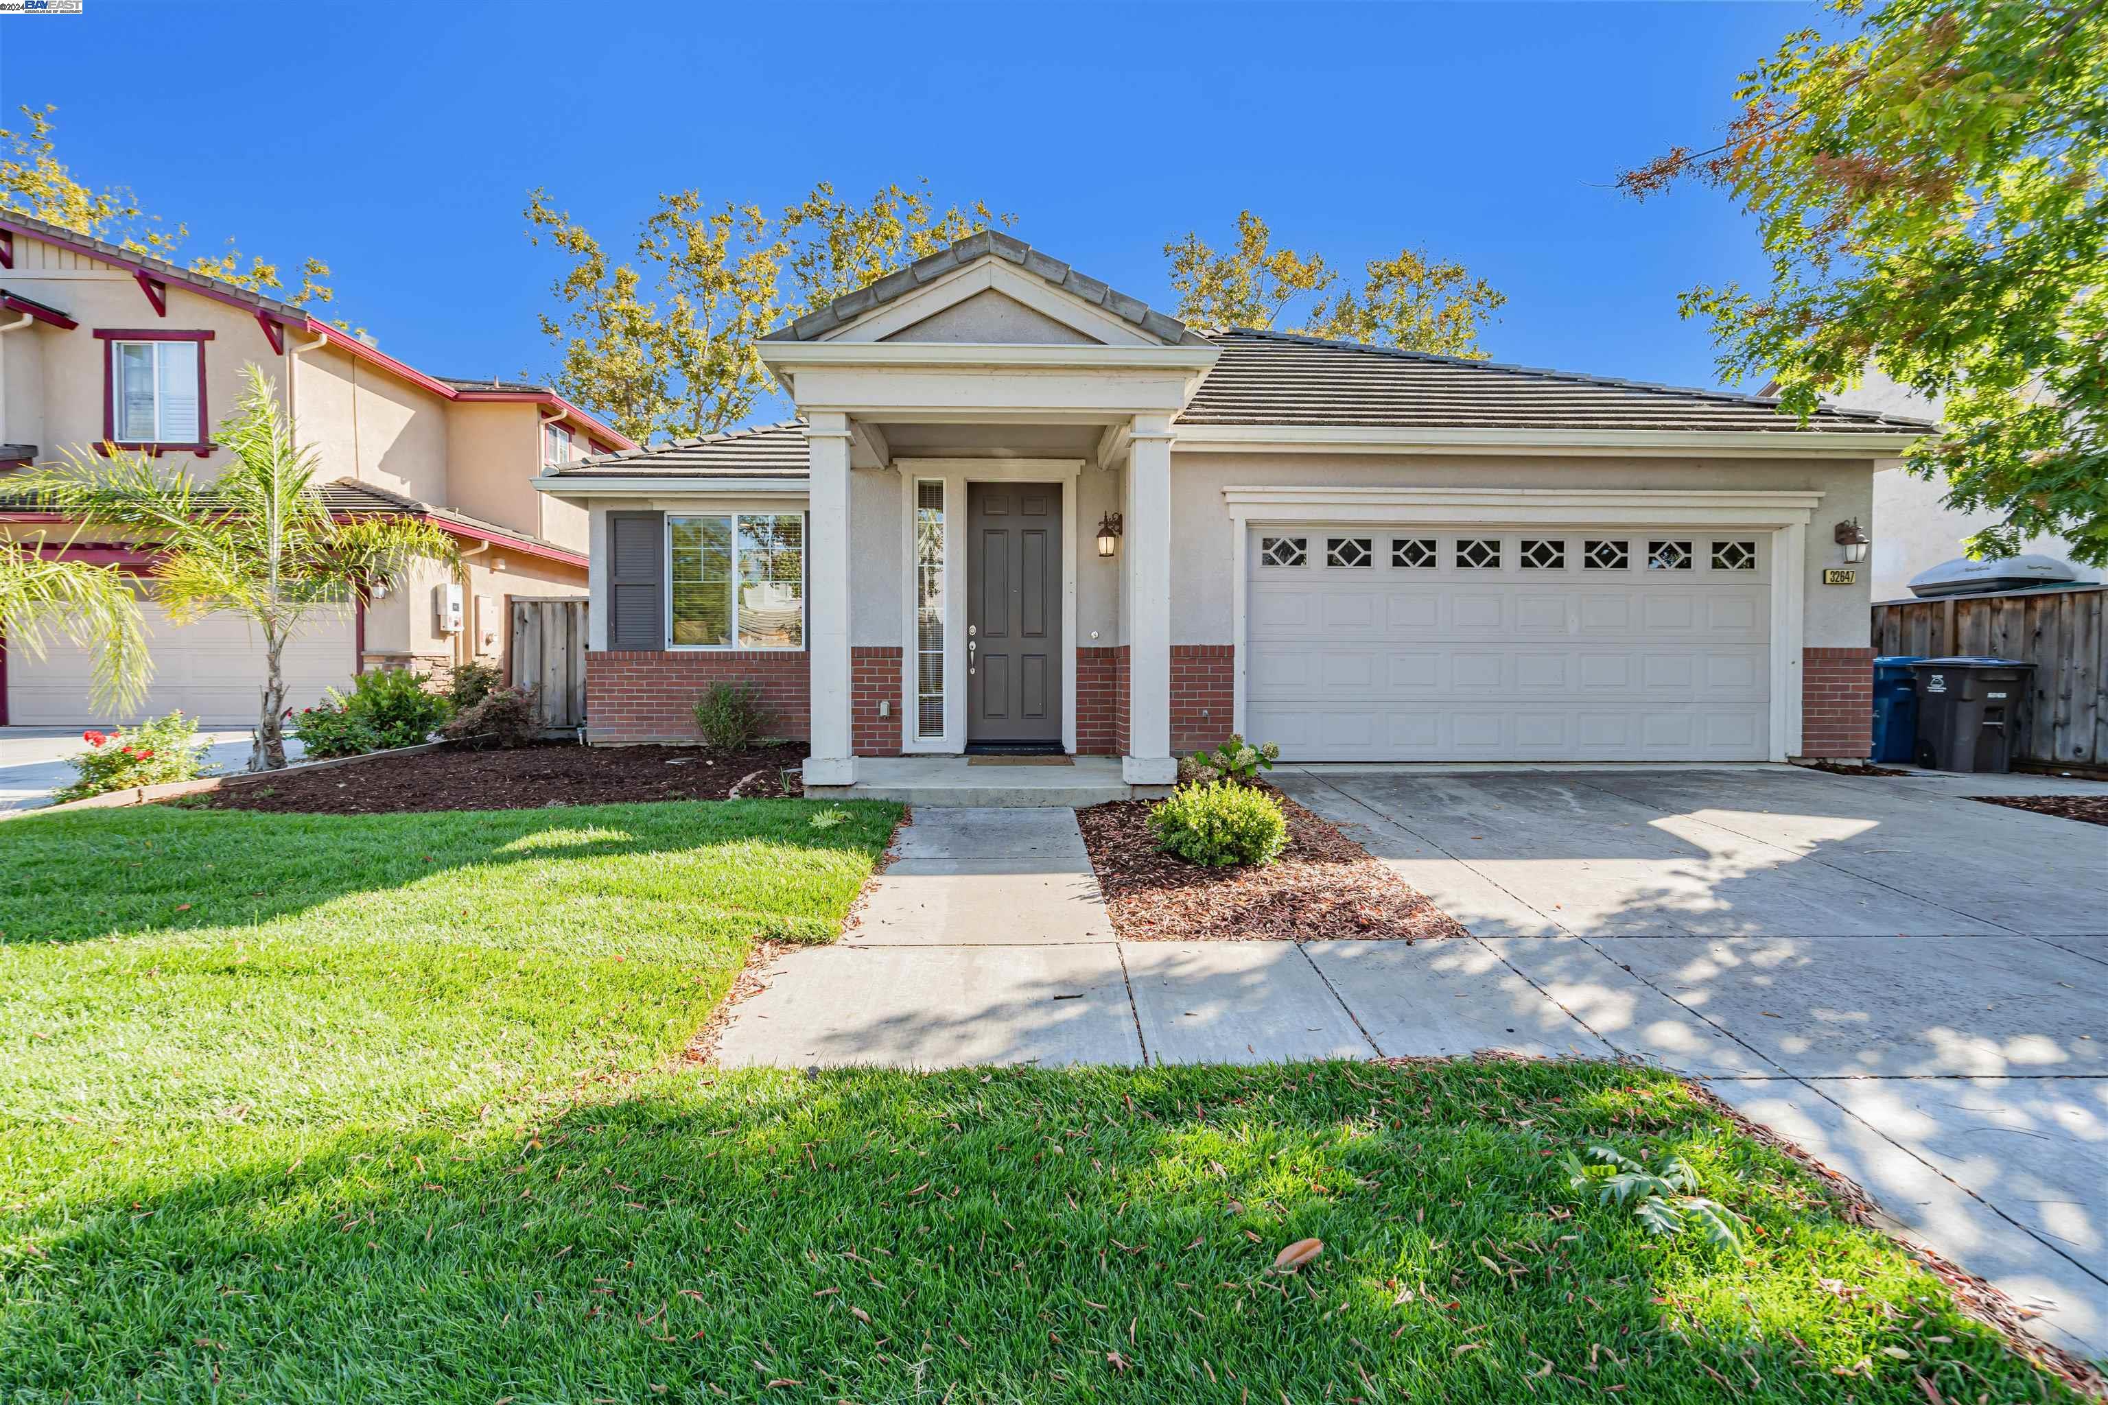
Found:
<svg viewBox="0 0 2108 1405"><path fill-rule="evenodd" d="M767 331L997 221L1010 217L940 206L928 185L858 204L822 181L778 215L681 190L660 194L635 263L618 263L535 190L529 240L569 261L542 316L557 388L635 440L736 426L772 392L755 354Z"/></svg>

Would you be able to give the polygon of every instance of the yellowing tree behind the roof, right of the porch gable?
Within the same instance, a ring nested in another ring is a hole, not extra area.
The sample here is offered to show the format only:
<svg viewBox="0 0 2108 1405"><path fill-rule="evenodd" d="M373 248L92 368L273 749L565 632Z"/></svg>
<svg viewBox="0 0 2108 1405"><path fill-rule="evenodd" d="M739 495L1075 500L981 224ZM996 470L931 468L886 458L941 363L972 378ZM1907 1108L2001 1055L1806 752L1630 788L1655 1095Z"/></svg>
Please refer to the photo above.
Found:
<svg viewBox="0 0 2108 1405"><path fill-rule="evenodd" d="M1324 255L1275 249L1267 221L1237 215L1237 242L1227 253L1210 249L1197 232L1164 246L1178 289L1178 316L1202 326L1258 326L1311 337L1395 345L1440 356L1484 356L1478 333L1507 303L1463 263L1436 261L1425 251L1402 249L1395 259L1362 265L1362 289L1339 286L1339 270ZM1336 291L1334 291L1336 289ZM1313 301L1292 305L1301 297Z"/></svg>

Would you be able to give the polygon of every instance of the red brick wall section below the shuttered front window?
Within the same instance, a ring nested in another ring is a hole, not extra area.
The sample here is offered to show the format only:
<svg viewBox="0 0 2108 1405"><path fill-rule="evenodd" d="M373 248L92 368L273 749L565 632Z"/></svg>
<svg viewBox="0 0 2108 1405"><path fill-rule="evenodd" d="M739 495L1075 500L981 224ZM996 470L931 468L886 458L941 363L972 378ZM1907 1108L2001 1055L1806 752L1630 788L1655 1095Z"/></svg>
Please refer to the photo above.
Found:
<svg viewBox="0 0 2108 1405"><path fill-rule="evenodd" d="M725 680L761 685L761 697L776 710L769 735L812 733L812 666L803 649L603 649L586 655L586 737L597 746L696 741L696 699Z"/></svg>

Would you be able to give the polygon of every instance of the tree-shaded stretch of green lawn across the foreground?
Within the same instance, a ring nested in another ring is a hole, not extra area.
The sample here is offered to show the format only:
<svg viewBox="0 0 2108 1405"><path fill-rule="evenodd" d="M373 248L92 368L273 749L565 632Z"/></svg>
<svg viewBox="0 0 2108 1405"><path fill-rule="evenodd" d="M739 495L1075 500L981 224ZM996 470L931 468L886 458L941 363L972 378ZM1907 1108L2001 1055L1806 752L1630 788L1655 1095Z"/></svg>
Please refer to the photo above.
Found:
<svg viewBox="0 0 2108 1405"><path fill-rule="evenodd" d="M1638 1068L683 1072L525 1129L27 1135L67 1167L8 1190L32 1399L2076 1399ZM1570 1190L1592 1142L1691 1159L1741 1249Z"/></svg>

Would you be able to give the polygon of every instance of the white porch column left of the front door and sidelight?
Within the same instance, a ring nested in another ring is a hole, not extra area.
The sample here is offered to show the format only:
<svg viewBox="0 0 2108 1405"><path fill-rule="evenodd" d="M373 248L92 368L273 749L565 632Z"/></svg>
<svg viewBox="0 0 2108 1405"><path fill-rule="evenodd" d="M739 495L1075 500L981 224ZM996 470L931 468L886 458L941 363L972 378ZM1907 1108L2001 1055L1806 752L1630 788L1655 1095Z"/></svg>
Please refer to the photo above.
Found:
<svg viewBox="0 0 2108 1405"><path fill-rule="evenodd" d="M805 649L812 666L807 786L854 786L850 752L850 417L812 413L807 438Z"/></svg>

